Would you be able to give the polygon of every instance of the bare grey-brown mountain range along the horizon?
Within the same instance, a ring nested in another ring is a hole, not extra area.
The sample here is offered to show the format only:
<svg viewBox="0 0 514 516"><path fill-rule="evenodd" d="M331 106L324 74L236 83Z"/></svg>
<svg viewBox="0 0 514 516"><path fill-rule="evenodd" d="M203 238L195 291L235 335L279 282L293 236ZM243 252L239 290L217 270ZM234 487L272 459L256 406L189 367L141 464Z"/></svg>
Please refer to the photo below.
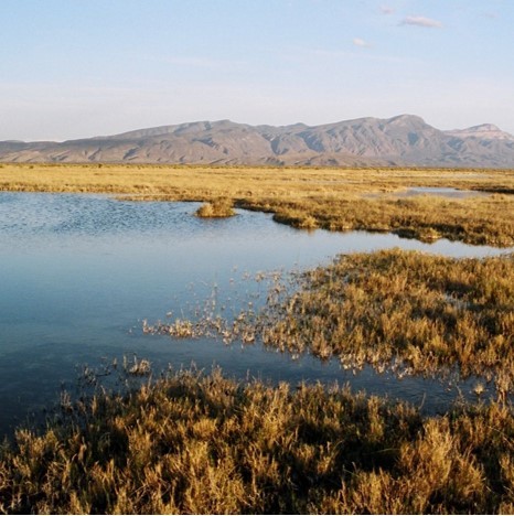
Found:
<svg viewBox="0 0 514 516"><path fill-rule="evenodd" d="M0 141L0 161L514 169L514 137L490 123L442 131L414 115L322 126L218 120L64 142Z"/></svg>

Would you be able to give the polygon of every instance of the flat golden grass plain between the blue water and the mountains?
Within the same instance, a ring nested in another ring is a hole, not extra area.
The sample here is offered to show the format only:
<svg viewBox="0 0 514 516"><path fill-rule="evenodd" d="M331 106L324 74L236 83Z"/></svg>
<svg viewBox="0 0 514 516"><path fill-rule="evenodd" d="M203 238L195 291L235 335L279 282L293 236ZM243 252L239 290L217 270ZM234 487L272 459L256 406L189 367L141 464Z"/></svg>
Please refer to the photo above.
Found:
<svg viewBox="0 0 514 516"><path fill-rule="evenodd" d="M491 195L396 196L410 186ZM514 171L6 163L0 165L0 190L113 193L136 200L226 198L239 207L274 212L278 222L297 227L514 245Z"/></svg>

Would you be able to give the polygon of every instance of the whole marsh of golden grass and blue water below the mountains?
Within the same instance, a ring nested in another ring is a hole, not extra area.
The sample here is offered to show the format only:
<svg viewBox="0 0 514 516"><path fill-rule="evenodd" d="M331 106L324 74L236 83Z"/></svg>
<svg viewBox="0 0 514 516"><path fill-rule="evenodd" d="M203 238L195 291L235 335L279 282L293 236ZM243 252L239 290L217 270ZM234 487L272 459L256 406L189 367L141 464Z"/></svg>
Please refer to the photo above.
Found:
<svg viewBox="0 0 514 516"><path fill-rule="evenodd" d="M511 171L0 184L1 512L513 509Z"/></svg>

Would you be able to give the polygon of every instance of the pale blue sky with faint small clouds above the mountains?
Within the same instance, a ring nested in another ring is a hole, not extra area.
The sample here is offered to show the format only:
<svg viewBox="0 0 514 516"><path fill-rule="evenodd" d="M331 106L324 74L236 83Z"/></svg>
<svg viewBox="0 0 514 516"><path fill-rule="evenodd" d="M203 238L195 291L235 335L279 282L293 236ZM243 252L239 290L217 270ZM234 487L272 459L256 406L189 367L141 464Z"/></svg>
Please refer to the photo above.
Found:
<svg viewBox="0 0 514 516"><path fill-rule="evenodd" d="M0 140L418 115L514 133L513 0L0 0Z"/></svg>

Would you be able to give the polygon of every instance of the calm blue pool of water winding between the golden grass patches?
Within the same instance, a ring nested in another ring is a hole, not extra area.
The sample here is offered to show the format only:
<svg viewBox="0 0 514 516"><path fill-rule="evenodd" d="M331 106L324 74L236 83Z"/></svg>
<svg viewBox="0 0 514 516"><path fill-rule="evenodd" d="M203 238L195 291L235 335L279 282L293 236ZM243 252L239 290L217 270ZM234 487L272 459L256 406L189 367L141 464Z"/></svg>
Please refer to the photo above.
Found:
<svg viewBox="0 0 514 516"><path fill-rule="evenodd" d="M135 203L98 195L0 193L0 434L58 400L84 365L124 356L154 370L213 364L236 378L350 381L355 389L401 397L438 410L448 385L354 376L311 356L292 359L260 345L144 335L142 321L189 315L213 288L232 303L259 293L259 271L302 270L341 252L390 247L456 257L504 252L448 240L422 244L394 235L317 230L239 211L227 219L194 217L196 203ZM463 389L471 387L461 386Z"/></svg>

